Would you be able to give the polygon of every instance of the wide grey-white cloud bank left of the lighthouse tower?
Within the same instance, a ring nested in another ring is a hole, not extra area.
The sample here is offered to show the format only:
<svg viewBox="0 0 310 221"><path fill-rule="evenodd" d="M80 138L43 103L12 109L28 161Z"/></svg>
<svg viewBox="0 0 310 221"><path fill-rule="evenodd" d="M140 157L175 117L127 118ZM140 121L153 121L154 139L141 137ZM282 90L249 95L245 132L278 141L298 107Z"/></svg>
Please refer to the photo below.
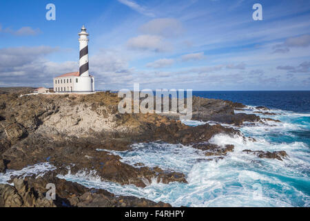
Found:
<svg viewBox="0 0 310 221"><path fill-rule="evenodd" d="M10 86L51 86L52 77L79 70L77 61L56 63L45 58L57 51L49 46L1 48L2 81Z"/></svg>

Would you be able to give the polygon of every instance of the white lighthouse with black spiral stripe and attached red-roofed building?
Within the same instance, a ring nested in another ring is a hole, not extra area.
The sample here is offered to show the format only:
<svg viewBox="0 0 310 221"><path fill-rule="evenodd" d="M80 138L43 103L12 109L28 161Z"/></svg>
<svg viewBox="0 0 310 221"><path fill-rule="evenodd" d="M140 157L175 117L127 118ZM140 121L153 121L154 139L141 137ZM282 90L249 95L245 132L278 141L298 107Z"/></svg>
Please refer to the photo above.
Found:
<svg viewBox="0 0 310 221"><path fill-rule="evenodd" d="M86 28L83 26L79 32L80 42L80 70L54 77L54 92L86 93L94 92L94 77L89 73L88 41Z"/></svg>

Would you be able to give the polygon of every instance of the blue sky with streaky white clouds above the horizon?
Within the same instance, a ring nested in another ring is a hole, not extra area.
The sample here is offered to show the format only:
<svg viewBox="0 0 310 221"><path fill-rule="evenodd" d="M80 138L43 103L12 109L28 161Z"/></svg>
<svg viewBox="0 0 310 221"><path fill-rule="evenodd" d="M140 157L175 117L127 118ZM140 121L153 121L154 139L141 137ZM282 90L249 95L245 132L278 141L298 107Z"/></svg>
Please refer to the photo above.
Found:
<svg viewBox="0 0 310 221"><path fill-rule="evenodd" d="M54 3L56 21L45 6ZM254 21L254 3L262 21ZM310 1L0 0L0 86L79 70L90 32L96 89L309 90Z"/></svg>

